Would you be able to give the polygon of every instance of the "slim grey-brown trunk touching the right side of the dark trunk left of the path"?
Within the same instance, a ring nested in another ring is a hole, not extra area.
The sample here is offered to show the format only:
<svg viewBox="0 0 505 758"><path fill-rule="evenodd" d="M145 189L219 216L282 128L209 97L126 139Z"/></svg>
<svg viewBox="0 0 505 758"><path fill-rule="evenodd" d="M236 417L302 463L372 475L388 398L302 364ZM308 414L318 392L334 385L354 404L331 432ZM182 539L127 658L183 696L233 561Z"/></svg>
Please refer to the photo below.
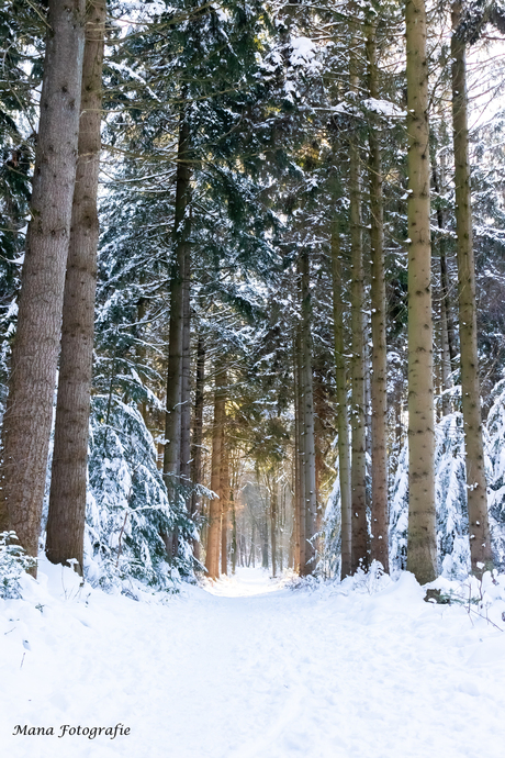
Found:
<svg viewBox="0 0 505 758"><path fill-rule="evenodd" d="M181 358L181 482L188 484L191 478L191 302L189 247L184 257L184 278L182 281L182 358Z"/></svg>

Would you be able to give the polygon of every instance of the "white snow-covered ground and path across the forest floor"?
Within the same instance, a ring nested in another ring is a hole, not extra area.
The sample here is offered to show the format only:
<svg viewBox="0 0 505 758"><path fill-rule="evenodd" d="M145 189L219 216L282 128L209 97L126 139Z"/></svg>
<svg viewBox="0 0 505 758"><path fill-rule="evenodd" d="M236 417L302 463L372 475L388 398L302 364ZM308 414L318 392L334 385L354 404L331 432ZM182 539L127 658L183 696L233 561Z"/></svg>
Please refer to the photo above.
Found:
<svg viewBox="0 0 505 758"><path fill-rule="evenodd" d="M411 575L293 590L243 570L162 604L79 590L47 564L24 584L0 601L10 758L505 755L505 633L425 603ZM505 628L505 578L485 599L475 611ZM116 724L130 733L58 736Z"/></svg>

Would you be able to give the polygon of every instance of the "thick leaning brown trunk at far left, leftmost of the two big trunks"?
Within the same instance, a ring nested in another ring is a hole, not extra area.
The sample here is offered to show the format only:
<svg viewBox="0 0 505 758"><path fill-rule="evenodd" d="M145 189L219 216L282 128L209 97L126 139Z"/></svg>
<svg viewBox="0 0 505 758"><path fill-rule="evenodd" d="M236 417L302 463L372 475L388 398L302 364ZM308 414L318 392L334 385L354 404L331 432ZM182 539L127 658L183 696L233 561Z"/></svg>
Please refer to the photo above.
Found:
<svg viewBox="0 0 505 758"><path fill-rule="evenodd" d="M31 221L2 427L0 530L36 556L78 155L85 3L49 0Z"/></svg>

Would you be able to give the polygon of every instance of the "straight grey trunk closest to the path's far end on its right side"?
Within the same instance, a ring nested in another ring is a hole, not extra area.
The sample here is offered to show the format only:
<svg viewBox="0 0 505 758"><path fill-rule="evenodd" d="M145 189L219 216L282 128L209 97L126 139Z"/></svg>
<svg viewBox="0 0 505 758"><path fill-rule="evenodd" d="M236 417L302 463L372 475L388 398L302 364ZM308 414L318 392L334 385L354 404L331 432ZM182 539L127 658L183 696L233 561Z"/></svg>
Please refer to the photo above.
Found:
<svg viewBox="0 0 505 758"><path fill-rule="evenodd" d="M301 422L303 441L303 480L302 498L305 501L305 560L301 566L302 575L313 573L315 569L314 536L316 530L316 467L314 439L314 392L312 380L312 302L310 290L308 254L302 254L301 288L302 288L302 320L301 320Z"/></svg>

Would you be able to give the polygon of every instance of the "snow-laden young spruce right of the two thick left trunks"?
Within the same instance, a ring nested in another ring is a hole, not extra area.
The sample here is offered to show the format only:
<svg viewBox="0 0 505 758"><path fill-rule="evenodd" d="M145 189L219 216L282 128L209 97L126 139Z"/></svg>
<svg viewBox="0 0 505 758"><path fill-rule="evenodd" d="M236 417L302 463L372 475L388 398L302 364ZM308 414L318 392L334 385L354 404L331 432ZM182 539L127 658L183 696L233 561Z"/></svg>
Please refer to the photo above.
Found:
<svg viewBox="0 0 505 758"><path fill-rule="evenodd" d="M127 590L137 580L172 590L192 571L189 535L194 527L181 493L178 502L168 501L142 415L117 395L94 397L90 436L87 579L105 589ZM175 530L179 551L168 561L164 536Z"/></svg>

